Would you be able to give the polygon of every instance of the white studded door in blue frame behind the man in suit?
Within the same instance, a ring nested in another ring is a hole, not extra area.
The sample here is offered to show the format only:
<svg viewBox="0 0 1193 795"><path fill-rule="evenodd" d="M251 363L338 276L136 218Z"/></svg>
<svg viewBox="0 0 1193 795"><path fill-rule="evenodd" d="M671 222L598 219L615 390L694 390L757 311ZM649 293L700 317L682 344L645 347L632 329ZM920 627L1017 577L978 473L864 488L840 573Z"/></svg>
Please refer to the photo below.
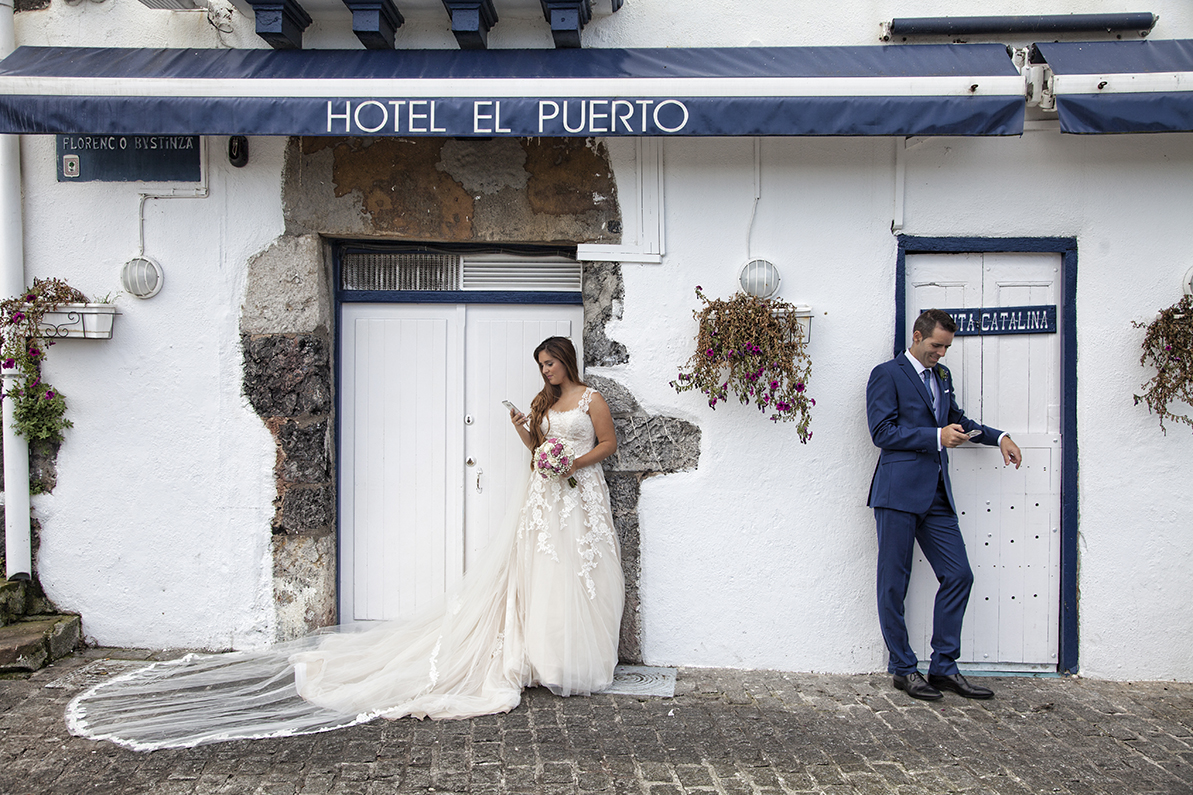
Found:
<svg viewBox="0 0 1193 795"><path fill-rule="evenodd" d="M907 258L907 328L933 307L1061 303L1058 254L915 254ZM950 451L953 498L973 591L962 634L963 668L1055 671L1061 583L1061 335L958 335L945 363L966 415L1007 431L1024 452L1003 467L997 448ZM911 646L932 653L937 581L916 548L907 598Z"/></svg>

